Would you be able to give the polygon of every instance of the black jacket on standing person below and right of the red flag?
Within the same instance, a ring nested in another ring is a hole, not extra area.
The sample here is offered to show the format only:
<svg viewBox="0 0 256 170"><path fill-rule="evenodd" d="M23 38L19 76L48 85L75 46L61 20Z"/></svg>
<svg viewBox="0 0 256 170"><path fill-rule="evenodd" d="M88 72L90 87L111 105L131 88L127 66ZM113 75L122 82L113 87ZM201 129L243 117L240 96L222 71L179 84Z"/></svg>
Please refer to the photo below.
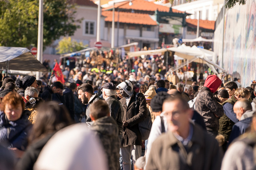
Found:
<svg viewBox="0 0 256 170"><path fill-rule="evenodd" d="M63 90L63 96L66 102L65 106L67 107L71 118L74 120L74 116L75 116L74 94L70 88L65 87Z"/></svg>

